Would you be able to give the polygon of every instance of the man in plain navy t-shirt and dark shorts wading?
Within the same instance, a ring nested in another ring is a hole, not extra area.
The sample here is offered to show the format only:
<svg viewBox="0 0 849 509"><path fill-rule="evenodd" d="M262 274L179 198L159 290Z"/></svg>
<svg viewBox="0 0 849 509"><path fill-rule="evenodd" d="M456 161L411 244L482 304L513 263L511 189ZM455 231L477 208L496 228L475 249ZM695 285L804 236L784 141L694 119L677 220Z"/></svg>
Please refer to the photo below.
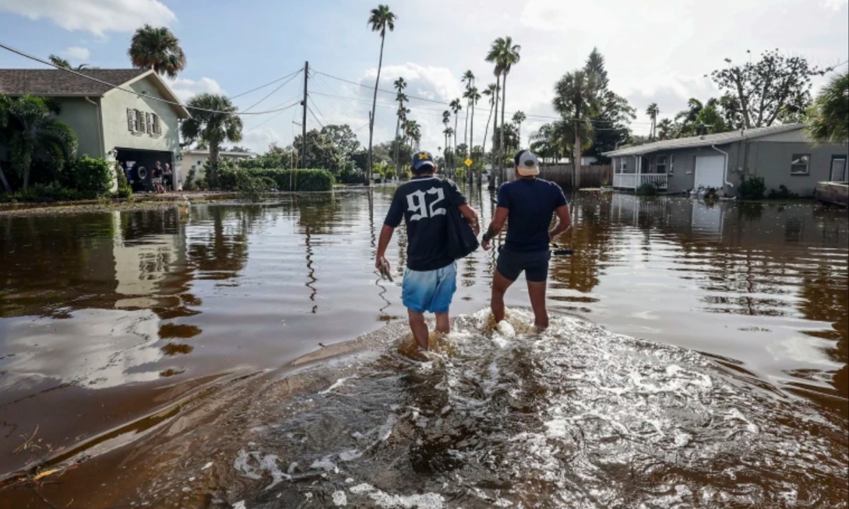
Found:
<svg viewBox="0 0 849 509"><path fill-rule="evenodd" d="M554 182L537 178L539 161L536 155L522 150L513 160L517 179L498 188L498 206L481 242L483 249L489 249L489 242L507 221L507 242L498 254L490 305L495 321L501 322L504 319L504 293L525 271L534 324L545 328L548 327L545 289L548 259L551 258L548 244L569 229L571 216L563 189ZM554 214L557 214L557 225L549 231Z"/></svg>

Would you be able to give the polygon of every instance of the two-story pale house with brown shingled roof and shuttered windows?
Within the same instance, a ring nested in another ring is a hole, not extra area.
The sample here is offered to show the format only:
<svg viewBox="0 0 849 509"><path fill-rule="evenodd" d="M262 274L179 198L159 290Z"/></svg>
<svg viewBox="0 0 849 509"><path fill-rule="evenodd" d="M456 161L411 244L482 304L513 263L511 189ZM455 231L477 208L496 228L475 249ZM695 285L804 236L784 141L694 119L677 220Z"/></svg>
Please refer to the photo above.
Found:
<svg viewBox="0 0 849 509"><path fill-rule="evenodd" d="M56 118L76 132L79 155L148 169L160 161L176 170L179 122L189 113L165 81L146 69L80 72L98 81L59 69L0 69L0 93L52 98L60 109Z"/></svg>

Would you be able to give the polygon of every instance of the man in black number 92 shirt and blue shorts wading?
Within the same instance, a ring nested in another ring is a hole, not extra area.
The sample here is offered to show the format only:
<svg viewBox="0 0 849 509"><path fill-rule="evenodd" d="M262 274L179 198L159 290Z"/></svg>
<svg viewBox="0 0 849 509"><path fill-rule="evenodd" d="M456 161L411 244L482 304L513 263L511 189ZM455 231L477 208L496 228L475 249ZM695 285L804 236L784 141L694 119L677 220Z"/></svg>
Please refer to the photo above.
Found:
<svg viewBox="0 0 849 509"><path fill-rule="evenodd" d="M407 307L410 329L421 348L427 349L428 329L424 311L436 314L436 330L451 331L448 308L457 289L457 264L448 254L448 207L457 207L475 230L480 231L475 210L469 207L457 185L435 176L436 163L429 152L413 155L413 178L402 184L380 230L377 260L379 271L389 270L386 247L395 228L407 224L407 270L404 271L402 300Z"/></svg>

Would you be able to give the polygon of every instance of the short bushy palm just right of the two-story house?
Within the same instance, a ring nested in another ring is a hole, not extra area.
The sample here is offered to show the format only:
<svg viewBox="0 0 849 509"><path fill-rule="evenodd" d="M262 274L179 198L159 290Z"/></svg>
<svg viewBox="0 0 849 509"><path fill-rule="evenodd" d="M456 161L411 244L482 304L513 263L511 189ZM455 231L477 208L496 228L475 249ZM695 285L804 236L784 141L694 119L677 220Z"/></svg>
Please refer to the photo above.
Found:
<svg viewBox="0 0 849 509"><path fill-rule="evenodd" d="M225 96L201 93L189 99L192 116L180 125L180 134L187 143L202 140L210 149L210 175L206 176L213 185L218 173L218 152L222 143L242 141L242 119L236 115L236 107Z"/></svg>

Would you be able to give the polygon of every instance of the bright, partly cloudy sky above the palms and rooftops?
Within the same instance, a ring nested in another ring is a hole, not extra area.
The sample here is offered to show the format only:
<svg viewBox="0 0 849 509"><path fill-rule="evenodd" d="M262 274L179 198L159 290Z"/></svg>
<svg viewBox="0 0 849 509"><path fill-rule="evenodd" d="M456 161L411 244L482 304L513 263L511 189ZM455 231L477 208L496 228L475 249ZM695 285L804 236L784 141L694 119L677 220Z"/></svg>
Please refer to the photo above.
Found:
<svg viewBox="0 0 849 509"><path fill-rule="evenodd" d="M169 81L183 100L198 92L232 97L308 60L307 127L346 123L365 145L380 56L380 36L367 24L374 7L374 0L0 0L0 42L41 58L56 53L71 64L118 69L130 67L133 31L145 23L168 26L188 60ZM523 140L554 120L554 83L582 67L593 48L606 59L610 88L638 110L637 134L649 131L649 103L658 104L662 119L691 97L717 96L706 75L726 65L725 58L749 59L747 50L756 58L777 48L820 66L849 60L849 0L396 0L390 7L397 20L386 35L380 88L391 90L402 76L409 96L436 101L408 104L410 118L422 126L422 148L433 151L444 145L441 112L461 97L464 71L475 74L479 89L495 81L484 57L499 36L521 46L507 80L506 112L526 113ZM37 67L43 65L0 49L0 68ZM241 110L256 103L255 112L297 103L303 75L284 82L233 102ZM821 84L814 81L814 92ZM395 112L394 94L379 92L374 143L393 137ZM483 99L475 109L475 144L488 114ZM245 116L239 145L258 152L271 143L288 145L301 115L296 105ZM465 111L461 133L464 121Z"/></svg>

